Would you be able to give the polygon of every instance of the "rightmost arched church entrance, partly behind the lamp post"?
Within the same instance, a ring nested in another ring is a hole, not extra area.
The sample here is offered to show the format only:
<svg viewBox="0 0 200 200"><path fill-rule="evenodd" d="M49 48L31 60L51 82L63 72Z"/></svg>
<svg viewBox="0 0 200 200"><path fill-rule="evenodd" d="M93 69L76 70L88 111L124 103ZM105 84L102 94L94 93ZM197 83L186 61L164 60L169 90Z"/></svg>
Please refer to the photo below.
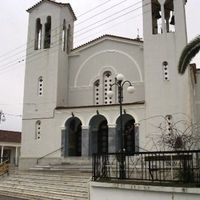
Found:
<svg viewBox="0 0 200 200"><path fill-rule="evenodd" d="M123 146L125 152L135 152L135 119L129 114L122 115L122 134L124 144L122 144L122 136L120 131L120 117L116 121L116 150L119 152Z"/></svg>

